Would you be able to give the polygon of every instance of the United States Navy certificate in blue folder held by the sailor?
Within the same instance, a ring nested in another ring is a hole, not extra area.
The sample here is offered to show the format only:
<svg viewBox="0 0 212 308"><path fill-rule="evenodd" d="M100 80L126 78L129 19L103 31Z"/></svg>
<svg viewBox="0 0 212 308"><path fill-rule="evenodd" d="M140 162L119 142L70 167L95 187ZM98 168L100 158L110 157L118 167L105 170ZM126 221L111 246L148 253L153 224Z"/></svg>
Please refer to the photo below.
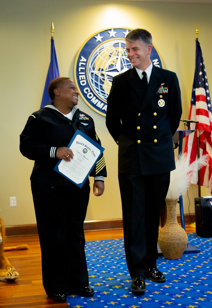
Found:
<svg viewBox="0 0 212 308"><path fill-rule="evenodd" d="M104 148L78 129L67 148L73 152L73 159L60 159L54 170L81 188Z"/></svg>

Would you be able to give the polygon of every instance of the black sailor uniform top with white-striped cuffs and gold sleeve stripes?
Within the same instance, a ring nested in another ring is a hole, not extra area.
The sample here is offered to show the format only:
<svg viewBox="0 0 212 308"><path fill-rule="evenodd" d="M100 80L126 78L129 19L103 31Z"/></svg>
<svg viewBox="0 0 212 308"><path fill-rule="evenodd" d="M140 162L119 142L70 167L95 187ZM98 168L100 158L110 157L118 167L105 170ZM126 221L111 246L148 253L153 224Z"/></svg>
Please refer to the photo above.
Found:
<svg viewBox="0 0 212 308"><path fill-rule="evenodd" d="M53 169L58 162L57 148L67 147L76 129L101 144L95 132L93 119L76 107L72 109L72 114L73 119L69 120L53 106L45 106L29 116L20 135L20 151L23 156L35 160L31 180L50 185L74 185ZM107 176L103 154L90 176L95 176L96 180Z"/></svg>

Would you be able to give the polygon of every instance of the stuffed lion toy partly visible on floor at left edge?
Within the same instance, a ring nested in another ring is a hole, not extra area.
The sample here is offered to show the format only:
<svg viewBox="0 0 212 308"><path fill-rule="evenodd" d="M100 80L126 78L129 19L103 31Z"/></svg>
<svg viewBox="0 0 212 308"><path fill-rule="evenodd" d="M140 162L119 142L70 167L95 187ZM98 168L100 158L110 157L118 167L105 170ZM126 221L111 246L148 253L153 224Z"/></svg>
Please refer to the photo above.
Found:
<svg viewBox="0 0 212 308"><path fill-rule="evenodd" d="M15 249L9 249L9 247L7 249L4 249L4 239L5 239L5 228L2 225L2 220L0 218L0 280L3 281L15 280L19 277L19 274L18 272L15 271L14 266L10 264L8 259L3 256L4 250L15 250Z"/></svg>

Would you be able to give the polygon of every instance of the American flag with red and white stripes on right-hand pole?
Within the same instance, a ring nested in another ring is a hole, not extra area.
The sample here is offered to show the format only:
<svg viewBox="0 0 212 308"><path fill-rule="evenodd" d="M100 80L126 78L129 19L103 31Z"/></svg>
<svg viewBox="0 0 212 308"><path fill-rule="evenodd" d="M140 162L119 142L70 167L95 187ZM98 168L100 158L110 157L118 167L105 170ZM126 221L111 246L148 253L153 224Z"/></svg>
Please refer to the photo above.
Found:
<svg viewBox="0 0 212 308"><path fill-rule="evenodd" d="M189 120L199 122L191 123L190 129L199 129L200 157L204 154L208 155L208 165L200 170L200 184L208 187L212 193L212 110L206 69L198 39ZM197 158L196 131L186 137L184 152L187 153L187 157L190 157L190 163ZM193 172L191 183L198 184L198 171Z"/></svg>

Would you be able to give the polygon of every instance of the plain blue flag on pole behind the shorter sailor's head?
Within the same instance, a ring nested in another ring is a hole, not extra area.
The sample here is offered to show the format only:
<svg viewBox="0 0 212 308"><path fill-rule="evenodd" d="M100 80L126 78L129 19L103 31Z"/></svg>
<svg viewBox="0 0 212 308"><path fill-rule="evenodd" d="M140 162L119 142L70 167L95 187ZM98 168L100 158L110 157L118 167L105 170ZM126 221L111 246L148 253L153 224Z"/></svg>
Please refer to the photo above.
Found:
<svg viewBox="0 0 212 308"><path fill-rule="evenodd" d="M55 45L54 45L54 40L51 39L51 62L49 64L49 70L47 73L47 78L46 78L46 83L43 91L43 98L41 101L40 108L43 108L47 103L52 102L52 100L49 97L48 94L48 85L49 83L59 77L59 68L58 68L58 63L57 63L57 56L56 56L56 51L55 51Z"/></svg>

